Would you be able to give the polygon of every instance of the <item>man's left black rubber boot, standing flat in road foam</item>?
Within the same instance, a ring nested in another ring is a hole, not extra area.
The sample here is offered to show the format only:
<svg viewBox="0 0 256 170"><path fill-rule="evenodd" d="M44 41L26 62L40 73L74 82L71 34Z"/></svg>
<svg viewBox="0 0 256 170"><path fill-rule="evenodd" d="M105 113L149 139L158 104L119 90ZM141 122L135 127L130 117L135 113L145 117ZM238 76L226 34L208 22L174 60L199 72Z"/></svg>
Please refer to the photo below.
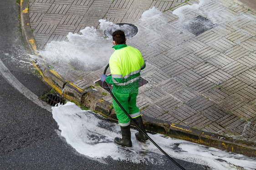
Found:
<svg viewBox="0 0 256 170"><path fill-rule="evenodd" d="M122 132L122 139L120 137L115 138L115 144L119 146L132 147L130 125L120 126Z"/></svg>

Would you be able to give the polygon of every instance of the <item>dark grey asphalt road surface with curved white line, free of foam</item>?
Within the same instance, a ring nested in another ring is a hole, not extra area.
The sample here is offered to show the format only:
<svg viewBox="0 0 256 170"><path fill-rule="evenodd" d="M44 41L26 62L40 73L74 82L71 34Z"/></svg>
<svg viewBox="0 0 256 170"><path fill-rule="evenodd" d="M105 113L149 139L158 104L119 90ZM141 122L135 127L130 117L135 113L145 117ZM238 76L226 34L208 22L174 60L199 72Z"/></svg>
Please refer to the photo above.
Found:
<svg viewBox="0 0 256 170"><path fill-rule="evenodd" d="M29 63L19 28L19 6L15 0L0 0L0 3L1 170L179 170L164 156L159 156L166 162L164 165L133 164L112 159L95 160L78 154L69 146L57 133L50 106L40 107L31 95L41 96L51 87L35 74ZM189 170L207 169L176 161Z"/></svg>

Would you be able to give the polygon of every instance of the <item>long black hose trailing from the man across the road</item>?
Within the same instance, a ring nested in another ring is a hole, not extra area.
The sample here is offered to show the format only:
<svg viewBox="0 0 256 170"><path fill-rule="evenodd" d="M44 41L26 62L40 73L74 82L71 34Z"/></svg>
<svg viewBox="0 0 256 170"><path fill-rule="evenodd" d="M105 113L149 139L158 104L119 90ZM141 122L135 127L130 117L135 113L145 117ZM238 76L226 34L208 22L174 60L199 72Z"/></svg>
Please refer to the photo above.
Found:
<svg viewBox="0 0 256 170"><path fill-rule="evenodd" d="M107 69L109 67L109 64L106 66L105 70L104 70L104 73L103 74L106 74L107 72ZM123 106L118 102L117 98L113 95L113 93L111 92L110 88L108 87L108 84L106 82L105 83L105 86L107 87L108 89L108 92L110 93L110 95L113 97L113 99L118 103L118 106L123 110L123 112L129 117L129 119L134 123L134 125L138 128L139 131L141 131L145 136L148 137L149 141L151 141L161 152L164 153L164 155L166 155L169 160L173 161L174 164L176 164L177 166L179 166L180 169L182 170L185 170L181 165L179 165L172 157L170 157L160 146L158 146L154 141L153 139L151 139L147 133L143 132L142 129L135 123L135 121L133 121L133 118L126 112L126 110L123 108Z"/></svg>

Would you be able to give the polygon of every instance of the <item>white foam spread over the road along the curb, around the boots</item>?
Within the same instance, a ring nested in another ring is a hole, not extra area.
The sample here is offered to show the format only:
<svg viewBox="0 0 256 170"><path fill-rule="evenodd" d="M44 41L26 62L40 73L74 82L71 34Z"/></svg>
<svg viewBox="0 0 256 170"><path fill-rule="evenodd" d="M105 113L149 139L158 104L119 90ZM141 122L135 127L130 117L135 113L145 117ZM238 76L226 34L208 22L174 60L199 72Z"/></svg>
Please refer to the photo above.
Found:
<svg viewBox="0 0 256 170"><path fill-rule="evenodd" d="M131 129L133 147L123 148L114 144L116 136L121 137L118 123L106 121L90 111L82 111L72 102L52 107L52 115L56 120L61 136L77 152L92 158L112 158L133 163L163 165L163 154L150 141L138 142ZM201 146L188 141L166 138L161 134L148 134L171 157L201 165L213 170L237 170L243 167L252 170L256 167L256 159L232 152L221 151L212 147Z"/></svg>

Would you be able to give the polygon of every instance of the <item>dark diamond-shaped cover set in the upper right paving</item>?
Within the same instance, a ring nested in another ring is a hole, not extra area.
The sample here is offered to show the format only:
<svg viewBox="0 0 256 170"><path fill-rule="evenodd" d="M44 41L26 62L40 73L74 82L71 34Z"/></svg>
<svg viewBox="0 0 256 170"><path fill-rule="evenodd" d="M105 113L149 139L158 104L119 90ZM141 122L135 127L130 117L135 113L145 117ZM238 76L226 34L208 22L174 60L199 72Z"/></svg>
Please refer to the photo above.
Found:
<svg viewBox="0 0 256 170"><path fill-rule="evenodd" d="M209 29L214 28L216 24L214 24L209 19L199 15L193 19L190 19L189 21L184 22L183 24L180 24L179 26L197 36Z"/></svg>

